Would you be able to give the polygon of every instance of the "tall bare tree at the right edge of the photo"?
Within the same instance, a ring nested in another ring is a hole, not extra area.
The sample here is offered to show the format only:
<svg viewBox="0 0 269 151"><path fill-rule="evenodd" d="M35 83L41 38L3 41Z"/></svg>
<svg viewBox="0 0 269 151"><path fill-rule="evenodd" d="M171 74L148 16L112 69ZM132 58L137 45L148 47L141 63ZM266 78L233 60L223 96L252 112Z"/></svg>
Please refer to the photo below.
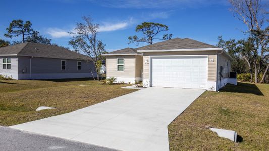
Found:
<svg viewBox="0 0 269 151"><path fill-rule="evenodd" d="M242 21L247 27L247 31L250 36L255 39L255 48L252 50L254 62L255 83L258 82L258 74L260 73L261 66L268 65L268 27L262 29L266 17L266 10L261 4L260 0L229 0L232 4L232 11L234 17ZM266 74L267 70L264 70L263 74ZM265 76L264 76L265 77ZM264 81L262 79L261 81Z"/></svg>

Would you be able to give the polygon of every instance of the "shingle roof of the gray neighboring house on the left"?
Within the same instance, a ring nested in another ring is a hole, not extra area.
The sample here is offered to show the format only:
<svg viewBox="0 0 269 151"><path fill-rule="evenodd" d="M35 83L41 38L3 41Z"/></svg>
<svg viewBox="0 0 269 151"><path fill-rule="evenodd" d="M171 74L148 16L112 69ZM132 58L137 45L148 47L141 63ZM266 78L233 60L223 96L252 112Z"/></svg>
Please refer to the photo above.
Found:
<svg viewBox="0 0 269 151"><path fill-rule="evenodd" d="M71 60L90 59L88 56L55 45L44 45L31 42L2 47L0 48L0 55L32 56Z"/></svg>

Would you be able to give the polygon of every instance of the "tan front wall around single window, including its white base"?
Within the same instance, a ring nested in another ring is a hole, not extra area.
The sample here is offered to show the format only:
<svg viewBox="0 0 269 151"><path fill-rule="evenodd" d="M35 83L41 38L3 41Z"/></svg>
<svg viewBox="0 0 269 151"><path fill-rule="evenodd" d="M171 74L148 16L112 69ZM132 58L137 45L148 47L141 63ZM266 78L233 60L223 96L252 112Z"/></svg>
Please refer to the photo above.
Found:
<svg viewBox="0 0 269 151"><path fill-rule="evenodd" d="M124 71L117 71L117 58L124 58ZM135 83L136 56L106 56L106 76L115 77L118 82Z"/></svg>

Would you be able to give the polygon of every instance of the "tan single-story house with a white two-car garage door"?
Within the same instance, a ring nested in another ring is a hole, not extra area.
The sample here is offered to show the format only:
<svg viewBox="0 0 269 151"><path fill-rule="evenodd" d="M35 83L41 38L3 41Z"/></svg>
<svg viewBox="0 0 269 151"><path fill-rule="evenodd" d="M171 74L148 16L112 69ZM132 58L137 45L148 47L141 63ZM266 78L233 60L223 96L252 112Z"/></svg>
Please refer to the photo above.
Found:
<svg viewBox="0 0 269 151"><path fill-rule="evenodd" d="M174 38L106 56L106 76L117 81L143 81L145 87L217 91L229 78L231 61L225 50L189 38Z"/></svg>

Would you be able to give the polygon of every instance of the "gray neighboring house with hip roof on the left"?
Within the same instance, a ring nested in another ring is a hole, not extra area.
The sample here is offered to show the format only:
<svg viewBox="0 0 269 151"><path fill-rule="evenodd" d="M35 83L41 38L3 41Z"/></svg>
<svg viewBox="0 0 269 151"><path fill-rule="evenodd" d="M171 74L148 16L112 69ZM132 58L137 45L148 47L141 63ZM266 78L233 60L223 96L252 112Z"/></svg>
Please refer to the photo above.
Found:
<svg viewBox="0 0 269 151"><path fill-rule="evenodd" d="M0 48L0 74L13 79L96 77L90 58L54 45L22 43Z"/></svg>

